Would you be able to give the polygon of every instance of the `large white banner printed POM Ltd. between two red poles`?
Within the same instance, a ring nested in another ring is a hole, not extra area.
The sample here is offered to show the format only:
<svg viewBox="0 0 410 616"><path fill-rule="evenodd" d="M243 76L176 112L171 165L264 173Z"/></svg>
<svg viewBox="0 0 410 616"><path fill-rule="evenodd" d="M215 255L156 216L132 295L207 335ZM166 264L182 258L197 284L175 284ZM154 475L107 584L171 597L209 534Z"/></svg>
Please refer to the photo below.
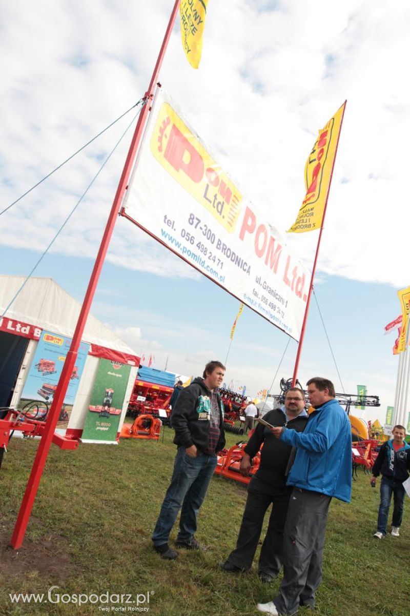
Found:
<svg viewBox="0 0 410 616"><path fill-rule="evenodd" d="M310 274L158 92L124 213L239 301L299 339Z"/></svg>

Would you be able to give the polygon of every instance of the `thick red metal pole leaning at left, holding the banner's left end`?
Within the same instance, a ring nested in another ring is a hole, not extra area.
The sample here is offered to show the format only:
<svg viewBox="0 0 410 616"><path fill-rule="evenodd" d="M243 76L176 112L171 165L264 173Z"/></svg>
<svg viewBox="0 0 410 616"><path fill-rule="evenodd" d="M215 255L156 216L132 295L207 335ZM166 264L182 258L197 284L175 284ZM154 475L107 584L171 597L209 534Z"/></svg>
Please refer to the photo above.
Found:
<svg viewBox="0 0 410 616"><path fill-rule="evenodd" d="M139 147L140 140L143 134L143 129L147 121L148 111L150 110L150 100L153 97L155 84L158 80L159 70L164 60L166 48L169 42L169 38L171 36L172 28L174 26L175 17L177 15L177 10L179 9L179 3L180 0L175 0L174 9L172 9L172 14L169 19L163 44L159 51L158 59L156 61L156 65L151 77L150 86L145 93L146 104L142 108L139 120L137 122L137 126L135 127L134 136L132 137L129 152L126 158L126 162L124 164L123 173L121 174L121 179L119 180L113 205L111 207L110 216L108 217L107 225L105 227L104 235L100 244L100 249L98 250L97 259L95 259L94 269L92 270L86 296L84 297L84 302L82 304L81 311L78 317L78 322L76 325L76 330L74 331L73 340L71 341L70 351L68 351L67 353L63 370L58 381L57 389L55 390L54 400L52 402L49 415L47 417L44 434L41 437L36 457L34 458L33 468L31 469L30 477L26 485L26 491L23 496L20 511L18 512L17 521L15 523L14 532L10 541L10 545L14 549L20 548L23 543L28 520L31 514L31 509L33 509L34 499L36 498L36 493L41 480L42 471L47 461L47 456L54 435L55 426L57 425L58 415L60 414L60 410L64 402L68 382L70 381L74 362L77 358L78 347L81 342L81 336L86 325L86 320L90 311L92 299L94 298L95 288L97 287L98 278L100 277L100 272L105 259L105 255L107 254L108 245L110 243L111 235L113 233L116 217L118 216L119 208L121 206L124 192L127 187L127 182L131 174L132 164L134 163L135 155L137 153L137 149Z"/></svg>

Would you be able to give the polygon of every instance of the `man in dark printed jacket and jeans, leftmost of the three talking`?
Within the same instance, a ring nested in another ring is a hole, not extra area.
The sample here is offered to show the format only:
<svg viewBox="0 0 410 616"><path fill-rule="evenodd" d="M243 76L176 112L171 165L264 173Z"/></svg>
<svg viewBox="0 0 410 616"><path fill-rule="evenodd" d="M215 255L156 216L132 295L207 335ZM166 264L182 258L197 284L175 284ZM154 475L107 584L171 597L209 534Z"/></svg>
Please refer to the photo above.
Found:
<svg viewBox="0 0 410 616"><path fill-rule="evenodd" d="M173 560L169 534L179 510L177 548L199 549L196 518L217 464L216 452L225 445L223 402L217 392L225 375L220 362L207 363L203 378L196 378L179 394L172 410L174 443L178 446L171 484L167 489L152 535L154 549Z"/></svg>

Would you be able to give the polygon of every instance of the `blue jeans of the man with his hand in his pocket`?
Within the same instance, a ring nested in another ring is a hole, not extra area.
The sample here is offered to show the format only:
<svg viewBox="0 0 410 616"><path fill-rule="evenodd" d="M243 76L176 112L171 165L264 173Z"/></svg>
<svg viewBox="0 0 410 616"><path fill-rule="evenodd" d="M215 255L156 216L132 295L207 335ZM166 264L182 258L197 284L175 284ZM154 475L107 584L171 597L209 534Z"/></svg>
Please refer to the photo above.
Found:
<svg viewBox="0 0 410 616"><path fill-rule="evenodd" d="M152 540L155 546L168 543L169 533L182 505L177 541L188 543L196 532L196 517L217 464L216 455L199 453L191 458L185 447L179 447L175 456L174 472L167 489Z"/></svg>

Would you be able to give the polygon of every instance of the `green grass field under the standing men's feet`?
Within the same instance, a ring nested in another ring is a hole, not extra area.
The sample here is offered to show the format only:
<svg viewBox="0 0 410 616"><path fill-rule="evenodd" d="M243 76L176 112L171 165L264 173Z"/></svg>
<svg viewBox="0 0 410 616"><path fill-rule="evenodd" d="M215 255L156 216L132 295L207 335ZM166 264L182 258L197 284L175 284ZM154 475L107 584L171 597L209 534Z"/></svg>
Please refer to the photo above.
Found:
<svg viewBox="0 0 410 616"><path fill-rule="evenodd" d="M53 446L18 553L5 548L38 442L11 440L0 469L1 615L95 616L107 613L105 607L110 614L140 614L136 607L149 607L151 616L255 616L255 604L273 598L280 580L259 582L255 563L241 575L217 566L235 547L246 499L242 484L212 479L196 535L203 551L180 551L169 562L151 548L176 450L172 436L166 428L164 442L124 440L119 446L80 445L76 452ZM228 434L228 444L238 440ZM361 471L352 504L332 501L318 616L410 614L410 500L406 497L401 537L382 541L372 538L378 503L379 491ZM174 530L171 544L175 535ZM52 586L58 588L48 601ZM107 592L130 594L136 602L127 603L127 597L108 604L62 602L73 594ZM13 603L9 593L44 593L47 603Z"/></svg>

